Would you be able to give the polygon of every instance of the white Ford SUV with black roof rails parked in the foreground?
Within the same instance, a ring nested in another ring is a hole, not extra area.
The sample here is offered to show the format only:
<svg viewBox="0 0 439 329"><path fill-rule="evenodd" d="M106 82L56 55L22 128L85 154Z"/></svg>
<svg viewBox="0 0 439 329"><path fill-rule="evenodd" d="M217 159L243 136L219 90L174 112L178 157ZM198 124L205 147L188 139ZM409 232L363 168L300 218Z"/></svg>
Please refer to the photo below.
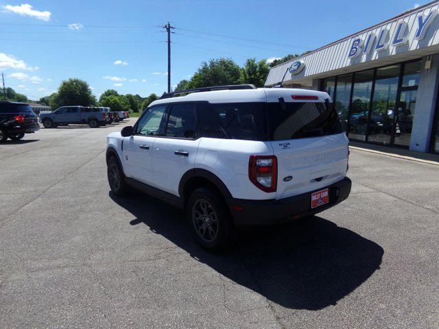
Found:
<svg viewBox="0 0 439 329"><path fill-rule="evenodd" d="M187 210L222 249L235 226L316 214L351 192L348 139L327 93L220 86L165 94L107 138L112 193L128 186Z"/></svg>

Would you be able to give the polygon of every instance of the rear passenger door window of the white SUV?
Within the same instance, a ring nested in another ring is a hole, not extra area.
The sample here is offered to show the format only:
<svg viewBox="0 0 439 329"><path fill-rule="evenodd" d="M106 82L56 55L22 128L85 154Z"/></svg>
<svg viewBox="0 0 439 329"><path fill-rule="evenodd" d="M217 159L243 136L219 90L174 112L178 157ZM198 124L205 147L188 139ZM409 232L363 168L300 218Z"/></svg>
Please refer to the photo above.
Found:
<svg viewBox="0 0 439 329"><path fill-rule="evenodd" d="M178 138L195 136L195 103L174 104L171 107L165 136Z"/></svg>

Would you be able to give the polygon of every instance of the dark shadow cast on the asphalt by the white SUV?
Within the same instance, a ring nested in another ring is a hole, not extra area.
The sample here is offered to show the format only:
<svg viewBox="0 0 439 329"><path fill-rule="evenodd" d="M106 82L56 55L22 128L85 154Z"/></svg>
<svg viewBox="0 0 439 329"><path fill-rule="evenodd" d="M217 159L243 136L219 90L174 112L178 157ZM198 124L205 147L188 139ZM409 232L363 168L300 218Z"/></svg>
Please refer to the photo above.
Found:
<svg viewBox="0 0 439 329"><path fill-rule="evenodd" d="M110 197L196 260L285 308L319 310L348 295L379 269L383 248L322 217L240 230L237 245L212 254L191 236L185 213L142 193ZM356 219L353 219L354 221Z"/></svg>

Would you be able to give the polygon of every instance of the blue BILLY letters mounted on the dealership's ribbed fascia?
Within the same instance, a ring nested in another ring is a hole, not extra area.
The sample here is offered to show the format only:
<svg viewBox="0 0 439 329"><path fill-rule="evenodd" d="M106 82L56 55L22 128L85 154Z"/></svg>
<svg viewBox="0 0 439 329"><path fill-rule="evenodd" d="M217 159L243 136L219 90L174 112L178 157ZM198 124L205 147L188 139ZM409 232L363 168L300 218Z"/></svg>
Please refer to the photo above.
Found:
<svg viewBox="0 0 439 329"><path fill-rule="evenodd" d="M416 32L414 40L423 40L427 29L433 23L438 15L438 10L431 10L429 14L420 14L416 17L414 24ZM357 58L362 54L370 54L372 51L383 51L388 49L389 45L400 46L405 45L408 41L407 22L400 21L396 24L394 33L388 38L389 29L381 28L378 32L370 32L365 38L355 37L349 48L348 58Z"/></svg>

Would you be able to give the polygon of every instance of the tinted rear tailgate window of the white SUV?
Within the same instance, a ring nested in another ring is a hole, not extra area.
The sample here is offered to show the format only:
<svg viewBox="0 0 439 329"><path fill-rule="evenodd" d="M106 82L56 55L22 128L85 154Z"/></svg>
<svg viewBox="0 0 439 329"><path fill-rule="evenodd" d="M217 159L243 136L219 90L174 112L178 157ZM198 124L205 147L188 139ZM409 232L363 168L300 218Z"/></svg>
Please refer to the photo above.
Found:
<svg viewBox="0 0 439 329"><path fill-rule="evenodd" d="M340 134L342 127L332 103L268 103L270 141Z"/></svg>

